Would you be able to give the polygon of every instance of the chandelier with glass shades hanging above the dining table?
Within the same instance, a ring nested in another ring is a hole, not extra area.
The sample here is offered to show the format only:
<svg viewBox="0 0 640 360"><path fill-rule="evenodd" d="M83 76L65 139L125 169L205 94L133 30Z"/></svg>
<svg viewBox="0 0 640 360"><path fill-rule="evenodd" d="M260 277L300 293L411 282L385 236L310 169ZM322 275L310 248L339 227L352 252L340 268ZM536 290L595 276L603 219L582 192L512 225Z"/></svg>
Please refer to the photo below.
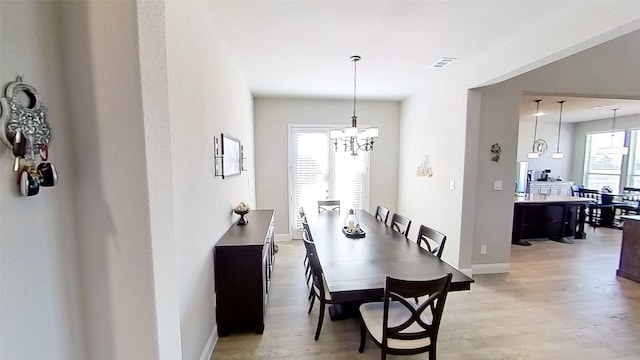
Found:
<svg viewBox="0 0 640 360"><path fill-rule="evenodd" d="M356 63L360 61L360 56L351 57L353 61L353 116L351 126L342 130L331 130L329 137L338 151L338 143L342 142L344 151L357 156L358 151L373 151L374 139L378 137L378 128L358 128L358 117L356 116Z"/></svg>

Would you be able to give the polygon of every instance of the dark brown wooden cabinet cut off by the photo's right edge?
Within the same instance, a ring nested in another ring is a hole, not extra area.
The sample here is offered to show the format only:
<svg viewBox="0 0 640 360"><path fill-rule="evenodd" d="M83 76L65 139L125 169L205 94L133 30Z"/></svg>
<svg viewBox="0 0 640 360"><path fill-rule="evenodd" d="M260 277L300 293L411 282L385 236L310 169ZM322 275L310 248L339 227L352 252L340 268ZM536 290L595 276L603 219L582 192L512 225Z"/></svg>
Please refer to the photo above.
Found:
<svg viewBox="0 0 640 360"><path fill-rule="evenodd" d="M618 276L640 282L640 216L623 216Z"/></svg>

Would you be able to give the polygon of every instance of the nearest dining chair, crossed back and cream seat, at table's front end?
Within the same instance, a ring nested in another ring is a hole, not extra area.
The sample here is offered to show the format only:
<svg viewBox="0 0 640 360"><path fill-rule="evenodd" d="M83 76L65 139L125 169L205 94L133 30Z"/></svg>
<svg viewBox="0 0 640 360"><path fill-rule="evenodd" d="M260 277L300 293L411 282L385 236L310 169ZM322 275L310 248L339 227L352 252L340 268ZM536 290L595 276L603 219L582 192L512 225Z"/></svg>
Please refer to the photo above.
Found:
<svg viewBox="0 0 640 360"><path fill-rule="evenodd" d="M387 354L413 355L428 352L436 359L438 329L451 273L432 280L403 280L387 276L384 302L360 305L360 348L364 352L367 334ZM420 298L419 304L408 301Z"/></svg>

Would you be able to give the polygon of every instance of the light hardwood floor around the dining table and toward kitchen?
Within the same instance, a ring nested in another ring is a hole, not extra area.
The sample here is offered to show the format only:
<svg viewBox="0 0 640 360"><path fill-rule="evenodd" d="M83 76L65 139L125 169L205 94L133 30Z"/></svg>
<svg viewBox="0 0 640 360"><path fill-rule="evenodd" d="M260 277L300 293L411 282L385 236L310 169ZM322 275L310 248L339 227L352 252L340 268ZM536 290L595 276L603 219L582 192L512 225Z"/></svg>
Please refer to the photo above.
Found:
<svg viewBox="0 0 640 360"><path fill-rule="evenodd" d="M438 359L640 359L640 284L615 275L621 234L588 229L571 245L512 246L510 273L476 275L471 291L449 294ZM358 353L355 319L327 316L313 340L318 305L307 315L304 246L278 245L264 334L220 338L212 359L379 359L370 340Z"/></svg>

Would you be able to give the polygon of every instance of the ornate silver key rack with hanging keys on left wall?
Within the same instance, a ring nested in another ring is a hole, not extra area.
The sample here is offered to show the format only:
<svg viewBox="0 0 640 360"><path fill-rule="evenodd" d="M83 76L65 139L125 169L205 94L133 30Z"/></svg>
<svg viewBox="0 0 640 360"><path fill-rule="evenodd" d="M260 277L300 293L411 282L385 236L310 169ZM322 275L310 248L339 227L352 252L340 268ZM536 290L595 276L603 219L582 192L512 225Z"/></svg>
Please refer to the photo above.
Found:
<svg viewBox="0 0 640 360"><path fill-rule="evenodd" d="M18 76L7 84L0 109L0 141L15 157L13 171L18 173L22 195L33 196L41 186L55 186L58 174L48 162L51 127L38 91Z"/></svg>

